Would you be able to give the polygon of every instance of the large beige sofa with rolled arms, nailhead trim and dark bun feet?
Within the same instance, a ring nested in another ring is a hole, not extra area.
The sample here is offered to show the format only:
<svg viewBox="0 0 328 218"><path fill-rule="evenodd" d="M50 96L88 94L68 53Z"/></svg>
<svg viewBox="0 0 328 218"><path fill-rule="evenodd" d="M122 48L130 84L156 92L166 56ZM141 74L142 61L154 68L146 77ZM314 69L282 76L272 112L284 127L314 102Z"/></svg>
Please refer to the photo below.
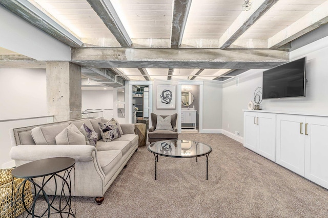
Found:
<svg viewBox="0 0 328 218"><path fill-rule="evenodd" d="M98 123L106 121L108 120L104 117L97 117L10 129L11 159L19 166L44 158L74 158L76 163L73 195L95 197L96 202L101 204L106 190L138 148L138 135L134 133L133 124L120 124L121 136L112 141L103 141ZM56 144L55 137L70 124L78 129L85 124L96 131L96 147L86 144ZM54 187L47 187L48 195L54 195L54 192Z"/></svg>

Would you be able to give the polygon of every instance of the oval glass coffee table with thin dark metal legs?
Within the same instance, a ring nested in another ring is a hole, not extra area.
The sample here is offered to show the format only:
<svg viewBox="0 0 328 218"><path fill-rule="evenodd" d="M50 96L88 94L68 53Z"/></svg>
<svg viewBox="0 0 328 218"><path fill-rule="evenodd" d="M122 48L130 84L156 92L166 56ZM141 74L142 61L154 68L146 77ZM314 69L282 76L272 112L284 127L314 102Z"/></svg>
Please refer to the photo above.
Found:
<svg viewBox="0 0 328 218"><path fill-rule="evenodd" d="M206 180L208 180L209 154L212 148L207 144L190 140L156 141L148 146L148 151L155 156L155 180L157 176L158 155L174 158L196 158L206 156Z"/></svg>

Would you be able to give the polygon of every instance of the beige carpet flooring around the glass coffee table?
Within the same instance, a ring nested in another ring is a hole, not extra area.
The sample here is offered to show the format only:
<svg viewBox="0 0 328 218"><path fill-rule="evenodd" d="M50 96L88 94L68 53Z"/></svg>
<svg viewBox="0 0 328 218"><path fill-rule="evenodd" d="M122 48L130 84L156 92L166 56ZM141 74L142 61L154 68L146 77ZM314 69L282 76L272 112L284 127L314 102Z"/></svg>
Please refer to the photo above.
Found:
<svg viewBox="0 0 328 218"><path fill-rule="evenodd" d="M140 147L103 204L76 197L76 217L328 217L328 190L222 134L181 133L209 144L206 157L159 156ZM57 217L57 216L52 216Z"/></svg>

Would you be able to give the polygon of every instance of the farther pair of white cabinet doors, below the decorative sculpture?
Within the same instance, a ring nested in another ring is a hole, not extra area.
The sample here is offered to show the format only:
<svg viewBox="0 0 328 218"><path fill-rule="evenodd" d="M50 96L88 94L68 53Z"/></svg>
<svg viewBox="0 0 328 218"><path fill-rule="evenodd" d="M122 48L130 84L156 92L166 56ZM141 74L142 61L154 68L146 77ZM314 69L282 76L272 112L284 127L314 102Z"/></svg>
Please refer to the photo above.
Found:
<svg viewBox="0 0 328 218"><path fill-rule="evenodd" d="M275 161L276 114L244 113L244 147Z"/></svg>

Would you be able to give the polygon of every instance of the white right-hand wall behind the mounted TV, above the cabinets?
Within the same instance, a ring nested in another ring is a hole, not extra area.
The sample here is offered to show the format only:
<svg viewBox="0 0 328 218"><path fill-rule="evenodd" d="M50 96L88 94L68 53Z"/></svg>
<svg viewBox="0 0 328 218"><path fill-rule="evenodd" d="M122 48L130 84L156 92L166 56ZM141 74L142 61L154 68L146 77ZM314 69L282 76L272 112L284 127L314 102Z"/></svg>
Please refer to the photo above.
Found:
<svg viewBox="0 0 328 218"><path fill-rule="evenodd" d="M306 97L263 100L260 107L270 111L293 111L328 115L328 37L300 47L290 53L290 60L306 56ZM243 112L258 86L262 86L262 71L249 70L235 79L223 82L222 129L243 136ZM229 127L228 127L229 126Z"/></svg>

